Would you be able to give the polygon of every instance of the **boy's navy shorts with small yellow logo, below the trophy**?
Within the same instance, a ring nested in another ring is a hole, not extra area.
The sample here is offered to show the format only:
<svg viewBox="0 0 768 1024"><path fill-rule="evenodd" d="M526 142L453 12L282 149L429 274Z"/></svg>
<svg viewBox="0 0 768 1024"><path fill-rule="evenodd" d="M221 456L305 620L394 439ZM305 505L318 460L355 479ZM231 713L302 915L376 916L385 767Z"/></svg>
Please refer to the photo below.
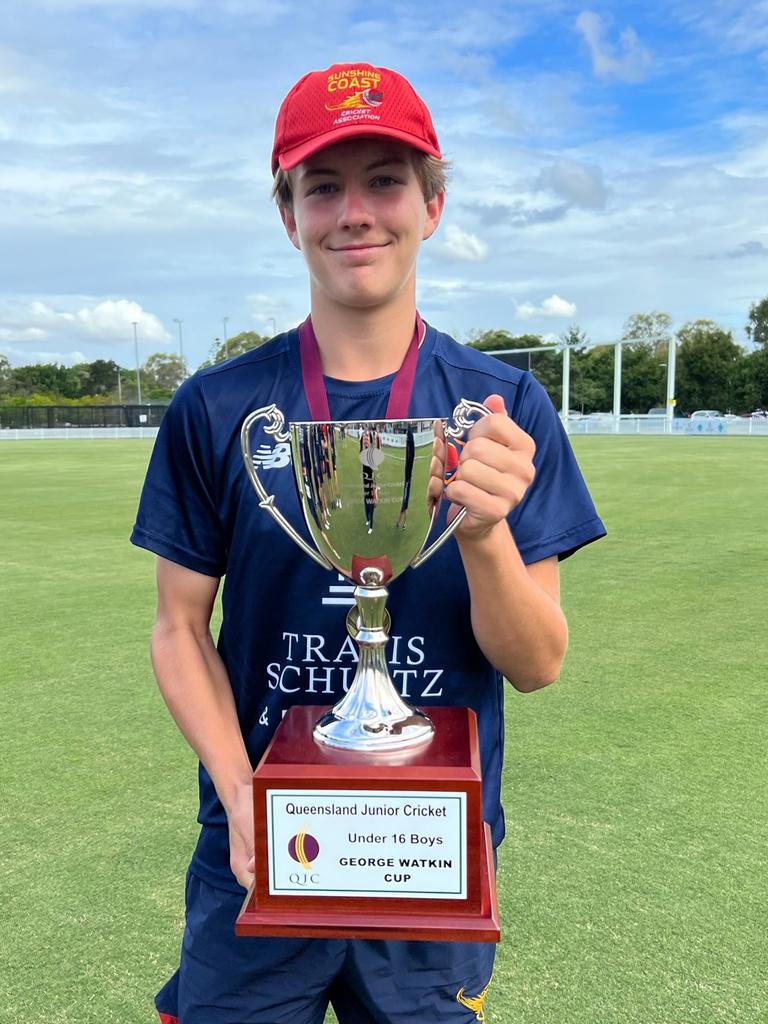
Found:
<svg viewBox="0 0 768 1024"><path fill-rule="evenodd" d="M243 897L189 872L178 971L163 1024L474 1024L496 946L484 942L260 939L234 935Z"/></svg>

